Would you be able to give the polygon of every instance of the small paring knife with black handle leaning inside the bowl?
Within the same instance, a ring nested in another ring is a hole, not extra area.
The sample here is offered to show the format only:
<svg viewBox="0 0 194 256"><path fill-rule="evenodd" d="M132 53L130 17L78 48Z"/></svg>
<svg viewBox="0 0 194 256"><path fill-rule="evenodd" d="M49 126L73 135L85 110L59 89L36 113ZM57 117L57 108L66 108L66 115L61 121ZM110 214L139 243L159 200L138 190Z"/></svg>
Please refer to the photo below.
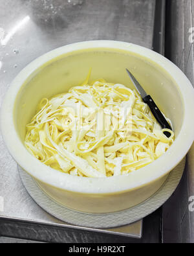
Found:
<svg viewBox="0 0 194 256"><path fill-rule="evenodd" d="M138 90L138 93L140 93L142 100L144 100L144 102L149 106L151 113L153 113L156 121L158 121L158 123L160 124L162 129L166 128L166 129L172 130L171 126L166 121L166 118L164 117L164 115L162 115L162 112L159 110L158 106L156 106L156 104L155 104L154 100L151 98L151 96L147 95L146 91L144 91L142 86L140 86L139 82L131 74L131 72L128 69L126 69L126 70L127 70L129 77L131 78L131 81L133 82L136 89ZM171 134L169 132L164 132L164 134L166 135L166 137L171 136Z"/></svg>

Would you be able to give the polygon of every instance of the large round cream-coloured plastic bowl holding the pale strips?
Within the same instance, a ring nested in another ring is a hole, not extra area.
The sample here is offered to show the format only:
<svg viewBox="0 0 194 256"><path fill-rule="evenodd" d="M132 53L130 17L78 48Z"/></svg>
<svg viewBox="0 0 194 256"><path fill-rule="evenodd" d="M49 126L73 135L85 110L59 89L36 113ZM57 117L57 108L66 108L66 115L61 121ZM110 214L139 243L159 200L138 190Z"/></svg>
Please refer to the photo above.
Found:
<svg viewBox="0 0 194 256"><path fill-rule="evenodd" d="M133 88L125 67L173 122L175 142L166 154L128 176L82 178L51 169L25 148L25 125L43 97L67 91L85 80ZM48 52L17 75L1 109L5 143L17 163L48 196L76 211L109 213L143 202L164 183L188 152L194 137L194 92L188 78L172 62L144 47L120 41L84 41Z"/></svg>

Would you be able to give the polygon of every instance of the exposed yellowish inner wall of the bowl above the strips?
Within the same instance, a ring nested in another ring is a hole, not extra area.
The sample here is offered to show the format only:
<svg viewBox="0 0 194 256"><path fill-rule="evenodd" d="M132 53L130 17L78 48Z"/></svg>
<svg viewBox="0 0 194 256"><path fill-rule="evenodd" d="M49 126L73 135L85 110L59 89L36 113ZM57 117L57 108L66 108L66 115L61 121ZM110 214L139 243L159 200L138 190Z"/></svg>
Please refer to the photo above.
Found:
<svg viewBox="0 0 194 256"><path fill-rule="evenodd" d="M39 101L80 85L90 68L90 81L105 78L107 82L135 89L127 76L126 67L151 94L160 110L171 119L177 137L184 118L184 108L181 93L171 76L149 58L134 52L101 48L63 54L39 67L28 77L17 94L14 108L14 122L21 141L25 139L25 126L35 115Z"/></svg>

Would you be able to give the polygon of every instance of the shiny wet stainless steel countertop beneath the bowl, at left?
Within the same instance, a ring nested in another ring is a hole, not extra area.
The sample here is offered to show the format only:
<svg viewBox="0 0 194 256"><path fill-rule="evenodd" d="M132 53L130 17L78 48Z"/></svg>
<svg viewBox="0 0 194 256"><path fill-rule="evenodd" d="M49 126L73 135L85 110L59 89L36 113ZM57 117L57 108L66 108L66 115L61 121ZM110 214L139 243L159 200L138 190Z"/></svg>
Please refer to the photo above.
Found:
<svg viewBox="0 0 194 256"><path fill-rule="evenodd" d="M85 40L152 47L155 0L0 0L0 6L0 104L17 73L56 47ZM0 216L63 224L30 198L1 136L0 152ZM123 228L139 233L140 227Z"/></svg>

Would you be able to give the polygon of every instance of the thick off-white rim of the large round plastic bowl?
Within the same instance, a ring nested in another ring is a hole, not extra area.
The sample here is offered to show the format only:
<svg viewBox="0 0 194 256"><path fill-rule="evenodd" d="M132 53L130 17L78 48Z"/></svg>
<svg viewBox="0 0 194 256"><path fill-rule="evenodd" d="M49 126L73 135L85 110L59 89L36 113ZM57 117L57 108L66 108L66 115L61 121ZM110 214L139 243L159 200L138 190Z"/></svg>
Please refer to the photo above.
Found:
<svg viewBox="0 0 194 256"><path fill-rule="evenodd" d="M27 80L28 76L35 73L43 65L56 59L60 55L73 54L76 51L92 49L110 49L114 51L127 51L138 54L142 58L150 59L151 62L159 65L175 80L182 102L184 104L184 120L182 128L175 139L175 142L167 152L142 169L129 173L127 176L113 176L109 178L83 178L70 176L58 172L36 159L21 142L14 124L14 106L17 93ZM186 75L164 56L140 45L112 40L81 41L71 43L43 54L27 65L11 83L1 107L1 133L10 154L16 162L35 179L52 187L71 192L89 194L118 193L138 189L149 185L154 181L167 175L186 156L194 139L194 90ZM9 130L7 130L9 127ZM182 139L184 137L184 140ZM16 146L17 145L17 146ZM159 170L158 166L160 167Z"/></svg>

